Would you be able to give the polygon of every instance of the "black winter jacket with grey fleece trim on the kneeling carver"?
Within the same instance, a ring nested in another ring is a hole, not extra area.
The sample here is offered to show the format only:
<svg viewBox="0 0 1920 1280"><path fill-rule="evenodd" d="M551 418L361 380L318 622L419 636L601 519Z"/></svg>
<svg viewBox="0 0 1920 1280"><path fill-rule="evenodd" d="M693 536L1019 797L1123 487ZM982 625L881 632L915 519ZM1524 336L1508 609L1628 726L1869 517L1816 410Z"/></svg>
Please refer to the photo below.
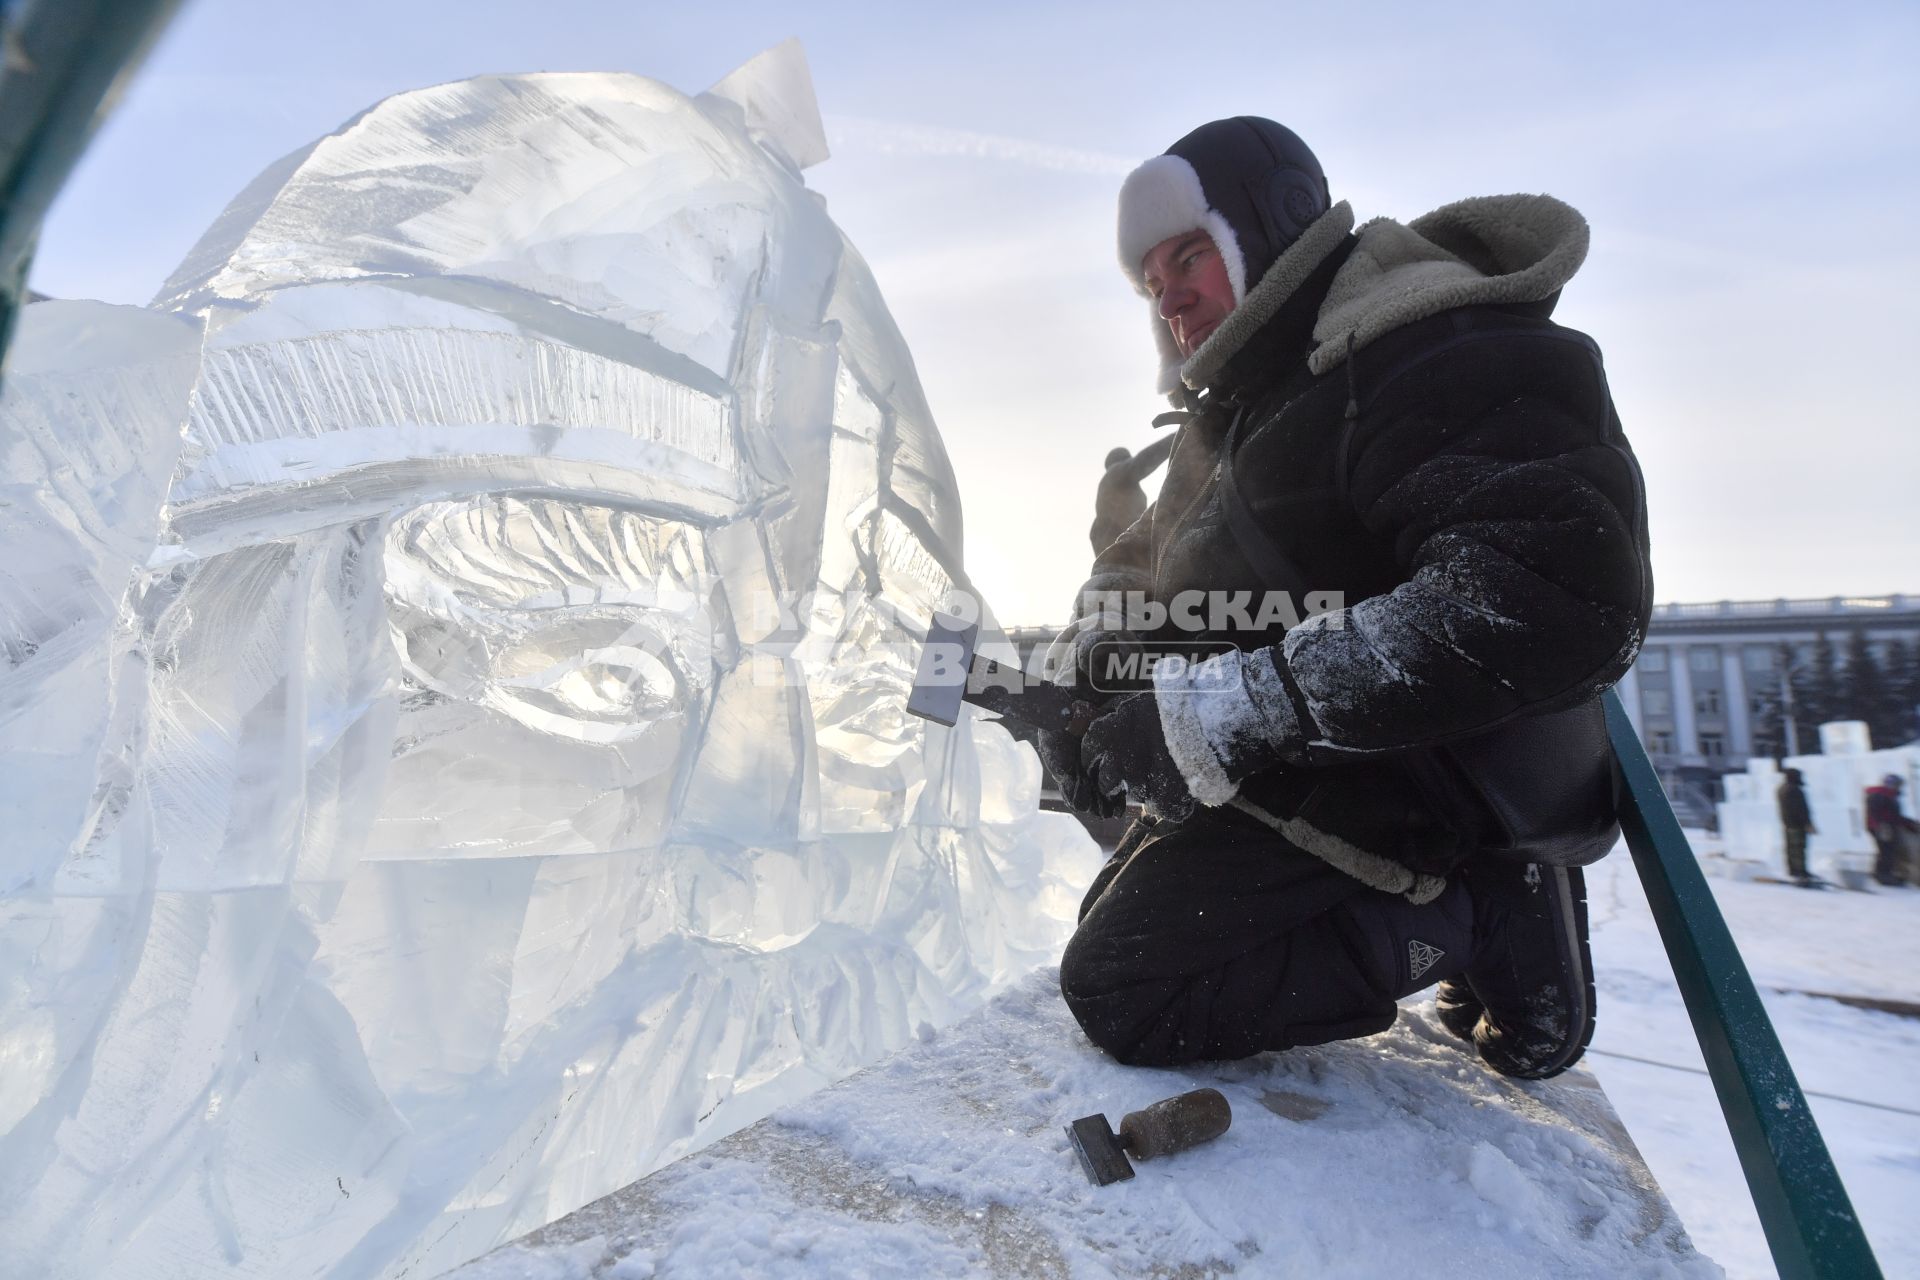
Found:
<svg viewBox="0 0 1920 1280"><path fill-rule="evenodd" d="M1584 251L1578 215L1546 203L1571 215ZM1526 236L1519 248L1473 244L1457 223L1475 217L1436 225L1450 209L1386 226L1398 238L1425 230L1444 246L1436 257L1471 269L1444 263L1465 282L1453 296L1476 296L1473 273L1511 278L1515 259L1538 257ZM1394 273L1407 249L1375 249L1373 226L1317 249L1309 232L1294 246L1323 257L1292 265L1300 278L1283 299L1260 299L1271 317L1208 376L1158 501L1094 560L1081 599L1254 589L1284 591L1306 612L1313 593L1340 593L1344 608L1300 626L1210 633L1250 654L1265 649L1277 676L1229 737L1254 723L1286 764L1244 779L1240 794L1321 837L1309 852L1402 889L1354 860L1377 854L1438 875L1469 850L1398 758L1615 683L1645 633L1653 585L1640 470L1599 353L1548 319L1559 280L1536 280L1534 299L1438 309L1446 294L1423 307L1415 288L1409 307ZM1498 280L1478 296L1500 297ZM1248 555L1233 528L1229 462L1240 510L1284 555L1279 570ZM1169 731L1175 758L1177 737Z"/></svg>

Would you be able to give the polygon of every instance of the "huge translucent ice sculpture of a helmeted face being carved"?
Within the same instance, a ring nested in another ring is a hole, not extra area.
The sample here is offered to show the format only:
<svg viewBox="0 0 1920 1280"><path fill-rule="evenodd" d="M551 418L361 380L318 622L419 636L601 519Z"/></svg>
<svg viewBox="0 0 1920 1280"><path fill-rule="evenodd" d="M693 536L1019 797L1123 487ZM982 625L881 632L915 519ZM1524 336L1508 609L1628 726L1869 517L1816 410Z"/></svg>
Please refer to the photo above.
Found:
<svg viewBox="0 0 1920 1280"><path fill-rule="evenodd" d="M783 46L390 98L0 399L0 1257L430 1276L1048 960L906 716L968 587Z"/></svg>

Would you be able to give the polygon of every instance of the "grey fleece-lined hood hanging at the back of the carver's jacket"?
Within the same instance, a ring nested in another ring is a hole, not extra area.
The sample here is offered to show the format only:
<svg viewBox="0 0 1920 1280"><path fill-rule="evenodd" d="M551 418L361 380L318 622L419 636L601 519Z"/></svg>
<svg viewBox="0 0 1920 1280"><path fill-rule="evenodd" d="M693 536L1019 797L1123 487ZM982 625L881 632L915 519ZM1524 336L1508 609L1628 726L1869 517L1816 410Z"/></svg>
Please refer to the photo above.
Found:
<svg viewBox="0 0 1920 1280"><path fill-rule="evenodd" d="M1455 307L1546 301L1586 246L1586 219L1551 196L1476 196L1405 225L1373 219L1327 290L1308 367L1325 374L1350 347Z"/></svg>

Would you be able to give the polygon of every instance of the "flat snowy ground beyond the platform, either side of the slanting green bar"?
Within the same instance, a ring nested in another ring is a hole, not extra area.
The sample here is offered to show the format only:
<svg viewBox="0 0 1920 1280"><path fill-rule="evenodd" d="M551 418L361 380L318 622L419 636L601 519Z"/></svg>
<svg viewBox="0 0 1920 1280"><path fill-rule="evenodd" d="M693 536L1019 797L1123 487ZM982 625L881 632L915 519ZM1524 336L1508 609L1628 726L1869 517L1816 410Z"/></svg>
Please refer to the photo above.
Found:
<svg viewBox="0 0 1920 1280"><path fill-rule="evenodd" d="M1713 860L1707 865L1713 869ZM1920 1004L1920 889L1809 892L1720 877L1709 885L1811 1094L1882 1270L1920 1276L1920 1021L1795 994ZM1588 1065L1693 1244L1736 1280L1772 1276L1734 1144L1624 848L1590 867L1588 900L1599 977L1599 1029Z"/></svg>

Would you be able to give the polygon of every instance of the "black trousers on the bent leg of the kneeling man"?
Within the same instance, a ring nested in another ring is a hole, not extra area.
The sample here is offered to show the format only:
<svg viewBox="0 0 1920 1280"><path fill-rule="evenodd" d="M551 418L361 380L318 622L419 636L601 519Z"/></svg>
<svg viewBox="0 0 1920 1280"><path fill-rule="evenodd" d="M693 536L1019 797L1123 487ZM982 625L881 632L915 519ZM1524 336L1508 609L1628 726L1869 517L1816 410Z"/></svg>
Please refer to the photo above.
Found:
<svg viewBox="0 0 1920 1280"><path fill-rule="evenodd" d="M1467 967L1473 904L1453 877L1413 906L1231 810L1135 823L1094 877L1060 958L1087 1036L1175 1065L1369 1036L1400 996Z"/></svg>

